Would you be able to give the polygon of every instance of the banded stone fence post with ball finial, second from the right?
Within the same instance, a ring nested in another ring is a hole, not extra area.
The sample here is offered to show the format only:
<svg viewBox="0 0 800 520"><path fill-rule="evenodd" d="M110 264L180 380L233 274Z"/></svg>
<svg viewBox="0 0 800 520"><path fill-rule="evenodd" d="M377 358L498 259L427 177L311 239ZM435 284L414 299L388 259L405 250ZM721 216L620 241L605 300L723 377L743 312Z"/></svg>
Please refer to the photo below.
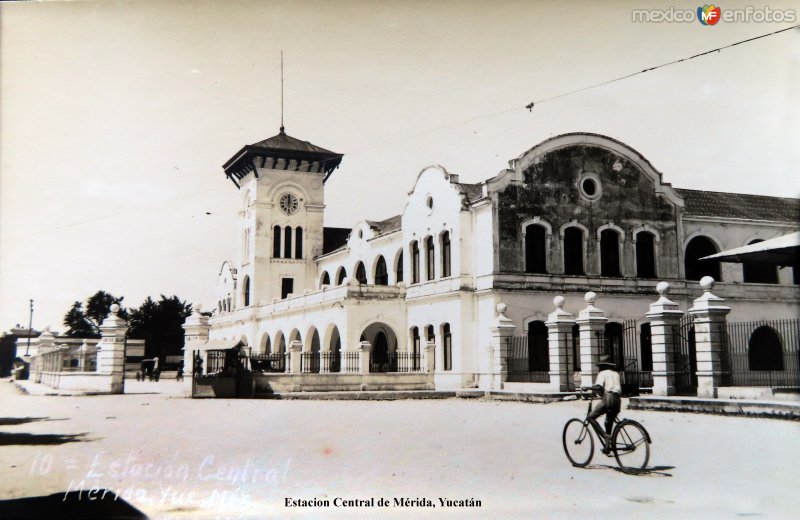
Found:
<svg viewBox="0 0 800 520"><path fill-rule="evenodd" d="M676 330L683 311L678 304L667 298L669 284L659 282L656 286L659 298L650 304L650 338L653 349L653 395L675 395L675 349L678 343Z"/></svg>

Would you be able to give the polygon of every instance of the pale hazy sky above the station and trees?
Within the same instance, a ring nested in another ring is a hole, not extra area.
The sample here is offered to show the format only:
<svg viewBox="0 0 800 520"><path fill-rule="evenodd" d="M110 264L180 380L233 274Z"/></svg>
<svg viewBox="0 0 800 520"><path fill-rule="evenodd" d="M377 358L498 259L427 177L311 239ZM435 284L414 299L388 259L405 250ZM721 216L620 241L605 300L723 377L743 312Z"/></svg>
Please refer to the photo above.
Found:
<svg viewBox="0 0 800 520"><path fill-rule="evenodd" d="M671 2L695 11L696 3ZM757 2L720 4L743 8ZM800 5L769 2L769 8ZM325 225L402 211L424 167L496 175L594 132L680 188L800 196L794 23L634 22L657 2L85 1L0 5L0 330L63 330L103 289L211 307L240 237L221 165L278 133L344 154Z"/></svg>

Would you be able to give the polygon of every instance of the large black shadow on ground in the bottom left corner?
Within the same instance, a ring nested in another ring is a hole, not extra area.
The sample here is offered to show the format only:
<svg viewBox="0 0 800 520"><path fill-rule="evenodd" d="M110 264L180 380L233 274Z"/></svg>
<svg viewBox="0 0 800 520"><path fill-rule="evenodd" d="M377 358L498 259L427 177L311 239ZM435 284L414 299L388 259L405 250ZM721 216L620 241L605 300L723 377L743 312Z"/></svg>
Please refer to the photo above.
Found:
<svg viewBox="0 0 800 520"><path fill-rule="evenodd" d="M97 490L93 495L86 491L54 493L48 496L0 500L0 518L28 520L140 520L147 515L117 497L110 490Z"/></svg>

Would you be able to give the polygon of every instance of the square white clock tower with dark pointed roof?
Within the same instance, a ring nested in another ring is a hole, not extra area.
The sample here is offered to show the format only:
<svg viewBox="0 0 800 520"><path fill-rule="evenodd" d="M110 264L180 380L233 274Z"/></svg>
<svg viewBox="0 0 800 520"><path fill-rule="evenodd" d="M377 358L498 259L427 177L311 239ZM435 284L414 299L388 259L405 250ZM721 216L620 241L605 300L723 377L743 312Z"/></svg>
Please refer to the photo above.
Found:
<svg viewBox="0 0 800 520"><path fill-rule="evenodd" d="M342 154L280 133L247 145L223 165L242 194L236 307L316 287L325 181Z"/></svg>

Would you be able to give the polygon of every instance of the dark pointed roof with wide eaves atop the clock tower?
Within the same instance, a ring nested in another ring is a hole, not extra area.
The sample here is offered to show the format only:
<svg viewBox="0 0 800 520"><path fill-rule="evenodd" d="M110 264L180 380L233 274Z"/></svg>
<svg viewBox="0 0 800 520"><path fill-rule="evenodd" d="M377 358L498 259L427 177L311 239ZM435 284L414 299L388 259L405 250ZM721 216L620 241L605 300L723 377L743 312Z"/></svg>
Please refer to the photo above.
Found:
<svg viewBox="0 0 800 520"><path fill-rule="evenodd" d="M280 133L269 139L248 144L222 165L225 175L239 186L241 179L258 168L322 173L323 181L342 162L342 154L288 135L281 127ZM256 172L256 177L258 172Z"/></svg>

